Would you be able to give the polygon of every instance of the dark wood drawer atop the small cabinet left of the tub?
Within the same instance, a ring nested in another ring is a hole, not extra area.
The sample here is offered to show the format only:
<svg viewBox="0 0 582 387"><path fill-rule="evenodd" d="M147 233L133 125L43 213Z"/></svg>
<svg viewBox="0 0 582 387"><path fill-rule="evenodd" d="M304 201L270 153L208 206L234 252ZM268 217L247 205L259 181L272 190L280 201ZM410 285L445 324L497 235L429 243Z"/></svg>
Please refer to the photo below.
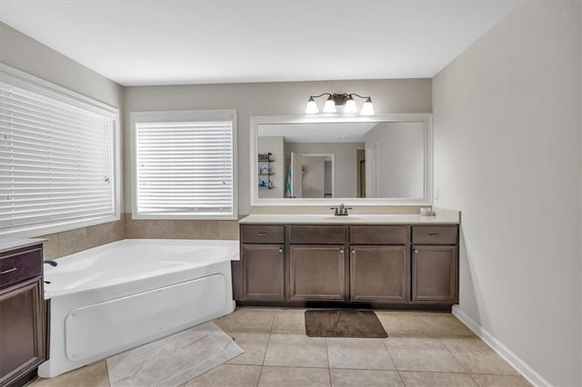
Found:
<svg viewBox="0 0 582 387"><path fill-rule="evenodd" d="M0 287L18 283L42 273L43 249L40 245L0 257Z"/></svg>

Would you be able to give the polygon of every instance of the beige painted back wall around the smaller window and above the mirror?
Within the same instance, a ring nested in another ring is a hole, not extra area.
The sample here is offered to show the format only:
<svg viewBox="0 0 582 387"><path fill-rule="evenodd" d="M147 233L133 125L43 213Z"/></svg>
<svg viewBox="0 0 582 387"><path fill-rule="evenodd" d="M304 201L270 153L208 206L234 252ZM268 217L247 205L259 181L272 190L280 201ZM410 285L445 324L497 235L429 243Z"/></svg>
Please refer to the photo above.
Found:
<svg viewBox="0 0 582 387"><path fill-rule="evenodd" d="M430 79L143 86L125 88L125 123L128 123L128 114L131 111L236 109L238 116L238 211L246 214L250 203L250 117L254 115L303 115L309 95L324 92L372 95L377 114L432 111ZM125 134L128 132L125 131ZM125 153L126 203L130 203L129 165L127 152ZM255 173L255 168L252 173ZM126 205L125 209L129 212L129 205Z"/></svg>

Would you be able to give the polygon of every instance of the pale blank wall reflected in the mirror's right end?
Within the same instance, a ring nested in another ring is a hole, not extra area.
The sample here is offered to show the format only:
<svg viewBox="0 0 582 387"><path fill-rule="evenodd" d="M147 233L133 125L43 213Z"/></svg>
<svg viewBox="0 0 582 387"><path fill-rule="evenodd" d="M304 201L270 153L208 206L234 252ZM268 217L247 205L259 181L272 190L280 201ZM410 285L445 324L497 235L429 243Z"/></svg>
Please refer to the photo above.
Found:
<svg viewBox="0 0 582 387"><path fill-rule="evenodd" d="M365 140L366 147L377 143L377 197L425 195L424 123L380 123Z"/></svg>

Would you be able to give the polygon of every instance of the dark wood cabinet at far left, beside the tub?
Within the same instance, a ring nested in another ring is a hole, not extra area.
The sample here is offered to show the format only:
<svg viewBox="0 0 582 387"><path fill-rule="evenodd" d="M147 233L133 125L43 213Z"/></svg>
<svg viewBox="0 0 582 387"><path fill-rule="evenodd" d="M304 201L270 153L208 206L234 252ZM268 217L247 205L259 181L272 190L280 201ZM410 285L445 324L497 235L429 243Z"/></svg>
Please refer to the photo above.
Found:
<svg viewBox="0 0 582 387"><path fill-rule="evenodd" d="M45 361L42 244L0 253L0 386L24 385Z"/></svg>

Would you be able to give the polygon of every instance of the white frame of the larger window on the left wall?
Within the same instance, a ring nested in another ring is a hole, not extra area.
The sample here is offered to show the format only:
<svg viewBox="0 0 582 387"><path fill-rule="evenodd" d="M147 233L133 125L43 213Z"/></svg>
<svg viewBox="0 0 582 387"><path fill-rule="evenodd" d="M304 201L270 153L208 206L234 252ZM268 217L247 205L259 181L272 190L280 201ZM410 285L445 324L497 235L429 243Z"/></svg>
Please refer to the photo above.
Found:
<svg viewBox="0 0 582 387"><path fill-rule="evenodd" d="M112 179L114 187L114 208L115 213L105 216L93 216L83 219L66 219L43 224L27 224L23 226L11 227L0 230L2 238L28 238L48 235L51 233L62 233L83 227L97 224L110 223L121 219L121 119L119 109L115 106L102 103L84 94L74 92L63 86L45 81L35 75L25 73L9 65L0 64L0 78L2 81L10 82L23 87L29 91L43 94L49 98L66 104L73 104L77 107L90 110L97 114L111 117L113 120L113 153L114 165Z"/></svg>

